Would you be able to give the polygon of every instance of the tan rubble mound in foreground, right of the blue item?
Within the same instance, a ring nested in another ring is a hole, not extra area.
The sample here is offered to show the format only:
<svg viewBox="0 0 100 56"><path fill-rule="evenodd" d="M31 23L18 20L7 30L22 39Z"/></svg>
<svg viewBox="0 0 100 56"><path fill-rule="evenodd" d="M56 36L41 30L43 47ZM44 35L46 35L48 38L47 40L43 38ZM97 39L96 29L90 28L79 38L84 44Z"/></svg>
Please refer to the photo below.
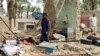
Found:
<svg viewBox="0 0 100 56"><path fill-rule="evenodd" d="M63 45L63 46L60 46ZM88 55L94 55L94 53L100 53L98 50L100 47L93 46L93 45L84 45L80 44L78 42L71 42L71 43L59 43L59 51L52 53L52 55L73 55L77 54L78 56L81 54L88 54ZM97 51L98 50L98 51Z"/></svg>

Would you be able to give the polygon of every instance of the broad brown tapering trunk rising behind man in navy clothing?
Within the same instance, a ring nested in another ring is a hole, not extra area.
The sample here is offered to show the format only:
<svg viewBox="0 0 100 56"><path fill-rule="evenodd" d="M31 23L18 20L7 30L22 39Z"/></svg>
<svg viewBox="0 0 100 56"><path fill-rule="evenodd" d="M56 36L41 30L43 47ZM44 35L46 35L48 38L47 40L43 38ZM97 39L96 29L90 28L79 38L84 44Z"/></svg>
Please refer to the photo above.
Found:
<svg viewBox="0 0 100 56"><path fill-rule="evenodd" d="M51 28L53 28L56 20L56 10L53 4L53 0L44 0L44 1L46 2L44 12L47 13L51 23Z"/></svg>

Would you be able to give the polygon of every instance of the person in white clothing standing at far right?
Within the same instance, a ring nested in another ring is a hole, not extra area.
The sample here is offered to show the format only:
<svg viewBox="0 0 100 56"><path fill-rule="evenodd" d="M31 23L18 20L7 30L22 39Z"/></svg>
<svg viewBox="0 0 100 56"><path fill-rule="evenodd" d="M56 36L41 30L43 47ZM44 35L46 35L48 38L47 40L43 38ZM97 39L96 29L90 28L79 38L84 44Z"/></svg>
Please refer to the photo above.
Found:
<svg viewBox="0 0 100 56"><path fill-rule="evenodd" d="M93 14L90 18L90 27L94 33L97 32L97 17Z"/></svg>

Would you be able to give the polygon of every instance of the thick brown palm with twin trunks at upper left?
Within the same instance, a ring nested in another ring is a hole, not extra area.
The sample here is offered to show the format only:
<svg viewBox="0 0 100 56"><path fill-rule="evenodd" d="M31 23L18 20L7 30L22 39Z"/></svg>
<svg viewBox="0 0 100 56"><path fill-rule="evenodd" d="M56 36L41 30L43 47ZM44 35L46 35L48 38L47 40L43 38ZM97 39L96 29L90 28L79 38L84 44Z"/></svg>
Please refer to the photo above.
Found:
<svg viewBox="0 0 100 56"><path fill-rule="evenodd" d="M14 18L14 26L16 26L16 14L18 12L21 14L21 4L26 3L26 1L27 0L7 0L10 28L12 28L12 18Z"/></svg>

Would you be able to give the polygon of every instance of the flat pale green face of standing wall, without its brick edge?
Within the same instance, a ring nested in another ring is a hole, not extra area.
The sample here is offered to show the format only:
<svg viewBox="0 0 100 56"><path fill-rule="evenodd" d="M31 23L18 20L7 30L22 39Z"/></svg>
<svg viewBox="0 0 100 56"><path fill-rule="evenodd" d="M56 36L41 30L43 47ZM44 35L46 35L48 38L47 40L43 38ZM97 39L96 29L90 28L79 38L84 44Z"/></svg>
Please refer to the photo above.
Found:
<svg viewBox="0 0 100 56"><path fill-rule="evenodd" d="M76 7L77 3L76 0L65 0L64 6L61 10L61 12L59 13L57 20L56 20L56 24L55 27L58 28L75 28L76 27ZM59 4L58 4L58 8L59 8ZM56 8L56 11L58 12L59 9ZM68 24L64 24L64 17L68 16Z"/></svg>

